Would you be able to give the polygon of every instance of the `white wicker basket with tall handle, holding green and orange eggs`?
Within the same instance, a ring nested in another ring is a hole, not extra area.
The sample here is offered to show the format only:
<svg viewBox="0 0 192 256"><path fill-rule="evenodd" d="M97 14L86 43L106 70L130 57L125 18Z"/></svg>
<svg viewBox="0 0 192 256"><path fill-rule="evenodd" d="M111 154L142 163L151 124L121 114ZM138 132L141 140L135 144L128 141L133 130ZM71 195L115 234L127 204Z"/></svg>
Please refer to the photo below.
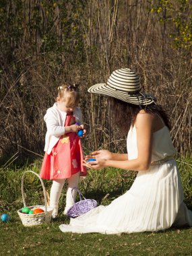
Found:
<svg viewBox="0 0 192 256"><path fill-rule="evenodd" d="M44 205L26 206L26 200L24 198L24 176L25 176L26 172L34 173L38 177L38 179L40 179L43 193L44 193ZM18 215L20 216L20 219L22 220L22 224L24 226L36 226L36 225L41 225L43 223L49 223L49 222L51 222L53 208L47 206L46 190L44 188L42 179L36 172L33 172L32 170L27 170L26 172L24 172L24 174L22 176L22 199L24 202L24 207L28 207L30 210L34 210L35 208L41 208L42 210L44 210L44 212L42 212L40 214L23 214L22 209L18 210L17 212L18 212Z"/></svg>

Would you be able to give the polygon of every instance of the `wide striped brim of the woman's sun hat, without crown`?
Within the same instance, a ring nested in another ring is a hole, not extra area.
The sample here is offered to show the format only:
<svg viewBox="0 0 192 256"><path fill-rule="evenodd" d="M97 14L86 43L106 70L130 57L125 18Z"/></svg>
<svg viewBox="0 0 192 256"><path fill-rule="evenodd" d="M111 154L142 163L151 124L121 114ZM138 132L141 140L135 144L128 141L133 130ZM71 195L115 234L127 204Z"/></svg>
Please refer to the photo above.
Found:
<svg viewBox="0 0 192 256"><path fill-rule="evenodd" d="M144 94L140 93L132 95L127 92L111 88L108 84L94 84L94 86L91 86L88 89L88 92L92 94L103 94L135 105L149 105L154 102L152 96L144 96Z"/></svg>

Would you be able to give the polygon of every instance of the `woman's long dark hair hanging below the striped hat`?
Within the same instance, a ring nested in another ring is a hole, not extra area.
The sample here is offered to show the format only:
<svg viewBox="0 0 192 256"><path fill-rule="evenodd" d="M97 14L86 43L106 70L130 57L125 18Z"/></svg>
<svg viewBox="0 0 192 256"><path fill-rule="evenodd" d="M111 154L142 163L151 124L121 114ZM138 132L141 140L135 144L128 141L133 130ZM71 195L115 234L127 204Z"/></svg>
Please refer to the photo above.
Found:
<svg viewBox="0 0 192 256"><path fill-rule="evenodd" d="M131 125L134 125L137 114L141 110L139 105L129 104L117 98L109 97L112 125L121 127L121 131L127 135ZM146 113L157 114L162 117L165 125L170 129L170 121L165 110L160 105L150 104L141 106Z"/></svg>

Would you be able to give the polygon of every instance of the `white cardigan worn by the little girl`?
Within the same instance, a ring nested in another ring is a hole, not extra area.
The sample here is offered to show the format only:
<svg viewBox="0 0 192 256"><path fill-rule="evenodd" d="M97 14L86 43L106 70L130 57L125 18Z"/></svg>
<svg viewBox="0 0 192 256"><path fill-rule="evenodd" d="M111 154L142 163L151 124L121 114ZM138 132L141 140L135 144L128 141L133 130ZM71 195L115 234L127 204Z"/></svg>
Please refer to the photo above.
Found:
<svg viewBox="0 0 192 256"><path fill-rule="evenodd" d="M57 108L57 103L55 103L51 108L46 110L46 115L44 115L44 121L46 122L46 135L45 135L45 145L44 151L47 154L51 153L51 150L59 141L61 135L65 133L65 119L67 113L62 112ZM73 112L75 121L82 125L82 110L80 108L75 108Z"/></svg>

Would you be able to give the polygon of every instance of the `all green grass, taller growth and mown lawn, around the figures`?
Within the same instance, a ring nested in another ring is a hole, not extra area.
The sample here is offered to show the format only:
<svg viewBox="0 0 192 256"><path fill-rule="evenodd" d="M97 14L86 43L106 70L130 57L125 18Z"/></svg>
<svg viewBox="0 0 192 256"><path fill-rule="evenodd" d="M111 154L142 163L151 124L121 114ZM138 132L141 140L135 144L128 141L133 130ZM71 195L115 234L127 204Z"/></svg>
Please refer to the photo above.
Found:
<svg viewBox="0 0 192 256"><path fill-rule="evenodd" d="M36 161L22 168L0 168L0 214L6 212L11 216L7 224L0 222L0 255L192 255L192 228L121 235L61 232L59 225L69 222L62 216L66 185L59 203L59 218L51 224L24 227L16 212L23 207L22 174L25 170L39 172L40 164ZM192 160L179 158L178 164L185 202L191 208ZM134 178L134 172L114 168L90 171L86 179L81 179L79 188L85 197L108 205L131 187ZM51 181L44 181L44 185L49 191ZM26 175L24 190L28 205L43 203L40 181L33 174Z"/></svg>

